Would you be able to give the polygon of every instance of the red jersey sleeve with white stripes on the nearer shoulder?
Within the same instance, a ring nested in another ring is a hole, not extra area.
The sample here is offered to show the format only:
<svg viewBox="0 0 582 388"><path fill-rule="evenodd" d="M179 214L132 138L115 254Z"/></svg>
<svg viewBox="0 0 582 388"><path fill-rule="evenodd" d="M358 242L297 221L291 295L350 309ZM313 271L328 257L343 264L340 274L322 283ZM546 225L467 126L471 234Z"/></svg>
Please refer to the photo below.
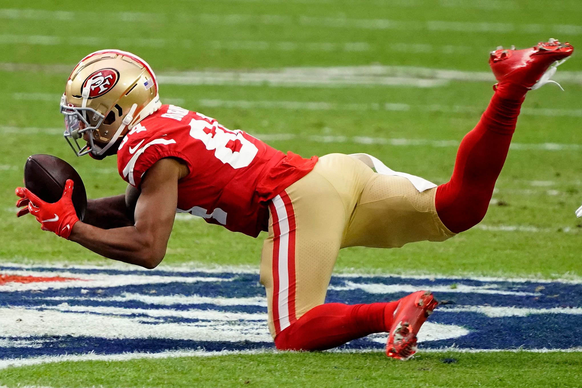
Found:
<svg viewBox="0 0 582 388"><path fill-rule="evenodd" d="M186 163L189 170L192 168L189 159L178 149L176 140L160 137L148 140L147 143L144 141L144 143L139 144L139 148L134 151L123 170L120 171L122 178L133 187L139 188L141 179L147 170L157 161L164 158L181 159Z"/></svg>

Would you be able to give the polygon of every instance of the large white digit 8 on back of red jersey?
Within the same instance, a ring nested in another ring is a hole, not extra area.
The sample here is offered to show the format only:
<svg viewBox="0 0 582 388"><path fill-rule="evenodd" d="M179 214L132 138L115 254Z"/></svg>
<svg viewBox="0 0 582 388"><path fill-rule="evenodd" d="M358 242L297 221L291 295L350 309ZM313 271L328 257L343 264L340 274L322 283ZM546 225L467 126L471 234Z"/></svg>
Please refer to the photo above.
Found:
<svg viewBox="0 0 582 388"><path fill-rule="evenodd" d="M205 117L197 113L198 116ZM239 169L250 165L257 156L258 149L249 140L244 138L240 130L228 130L215 120L192 119L190 121L190 136L201 140L206 149L214 149L214 156L219 161L229 164L233 169Z"/></svg>

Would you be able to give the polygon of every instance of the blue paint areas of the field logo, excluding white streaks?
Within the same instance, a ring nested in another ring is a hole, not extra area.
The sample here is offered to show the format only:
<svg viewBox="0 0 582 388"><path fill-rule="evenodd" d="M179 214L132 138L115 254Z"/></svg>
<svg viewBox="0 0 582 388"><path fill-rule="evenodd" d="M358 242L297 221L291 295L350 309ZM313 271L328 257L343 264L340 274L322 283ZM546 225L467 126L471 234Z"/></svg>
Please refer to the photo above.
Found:
<svg viewBox="0 0 582 388"><path fill-rule="evenodd" d="M0 273L7 270L23 270L19 267L0 266ZM140 294L143 296L203 296L203 297L262 297L264 290L258 282L258 275L247 273L206 273L206 272L172 272L170 270L152 270L150 272L117 270L117 269L55 269L51 267L36 267L35 272L47 273L46 276L56 276L62 272L74 273L79 276L87 275L138 275L138 276L172 276L172 277L215 277L226 279L221 282L170 282L151 284L132 284L129 286L94 287L90 282L83 287L70 287L48 290L0 291L0 307L20 307L35 309L39 315L60 305L60 311L67 312L68 307L118 307L131 309L170 309L171 311L190 311L192 309L211 310L218 312L267 312L260 305L232 305L219 306L212 303L203 304L151 304L136 300L111 301L110 297L121 297L123 294ZM412 286L445 286L450 291L435 293L441 301L446 301L430 317L430 322L443 325L456 325L469 329L470 333L452 339L424 341L420 348L440 348L455 345L459 348L477 349L565 349L582 347L582 315L576 314L531 314L528 316L501 316L491 318L479 312L447 312L446 309L457 306L492 306L492 307L519 307L533 309L547 309L554 307L582 307L582 284L566 284L560 282L484 282L475 279L412 279L391 276L374 277L342 277L334 276L331 285L345 287L346 282L356 284L410 284ZM455 292L460 286L488 287L488 290L531 293L534 295L503 295L483 294L477 292ZM329 290L327 302L345 302L348 304L368 303L377 301L396 300L407 293L397 292L390 294L368 293L361 289ZM50 298L58 297L58 300ZM86 300L99 298L100 300ZM105 299L105 300L104 300ZM65 305L66 306L66 305ZM92 316L113 315L110 313L87 312L87 320ZM209 322L205 319L183 318L179 314L156 316L158 321L152 321L148 314L123 315L124 318L135 318L144 325L158 325L160 323L179 323L180 325ZM143 321L141 321L143 319ZM239 321L238 325L244 322ZM66 322L65 322L66 324ZM0 343L5 340L5 346L0 346L0 359L34 357L39 355L84 354L94 352L98 354L118 354L133 351L159 352L165 350L247 350L258 348L272 348L270 341L228 341L228 340L181 340L168 338L143 337L137 339L107 338L108 328L104 328L103 337L81 335L67 336L16 336L6 337L0 333ZM24 345L23 345L24 343ZM12 344L12 345L10 345ZM28 345L26 345L28 344ZM31 344L34 344L31 345ZM369 338L354 340L342 348L384 348L384 344Z"/></svg>

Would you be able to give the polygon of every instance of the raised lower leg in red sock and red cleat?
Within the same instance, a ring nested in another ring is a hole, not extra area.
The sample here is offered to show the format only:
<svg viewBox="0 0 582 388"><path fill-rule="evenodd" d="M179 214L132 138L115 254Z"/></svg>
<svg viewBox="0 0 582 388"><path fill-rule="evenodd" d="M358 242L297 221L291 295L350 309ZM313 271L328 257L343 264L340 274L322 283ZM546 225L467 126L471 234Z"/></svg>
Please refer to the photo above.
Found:
<svg viewBox="0 0 582 388"><path fill-rule="evenodd" d="M538 81L547 83L541 79L548 67L572 51L571 45L550 40L528 49L491 53L489 64L499 81L495 94L480 122L463 138L450 181L437 189L437 212L449 230L463 232L483 219L526 92Z"/></svg>

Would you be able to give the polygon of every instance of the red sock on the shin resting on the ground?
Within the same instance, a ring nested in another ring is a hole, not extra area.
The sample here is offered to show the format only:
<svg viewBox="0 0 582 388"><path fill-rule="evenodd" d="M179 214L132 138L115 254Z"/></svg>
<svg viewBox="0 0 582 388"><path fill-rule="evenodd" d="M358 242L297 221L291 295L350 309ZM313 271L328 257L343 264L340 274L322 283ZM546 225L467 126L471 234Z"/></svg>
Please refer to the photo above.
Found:
<svg viewBox="0 0 582 388"><path fill-rule="evenodd" d="M327 303L307 311L275 337L279 350L326 350L372 333L388 332L398 301Z"/></svg>

